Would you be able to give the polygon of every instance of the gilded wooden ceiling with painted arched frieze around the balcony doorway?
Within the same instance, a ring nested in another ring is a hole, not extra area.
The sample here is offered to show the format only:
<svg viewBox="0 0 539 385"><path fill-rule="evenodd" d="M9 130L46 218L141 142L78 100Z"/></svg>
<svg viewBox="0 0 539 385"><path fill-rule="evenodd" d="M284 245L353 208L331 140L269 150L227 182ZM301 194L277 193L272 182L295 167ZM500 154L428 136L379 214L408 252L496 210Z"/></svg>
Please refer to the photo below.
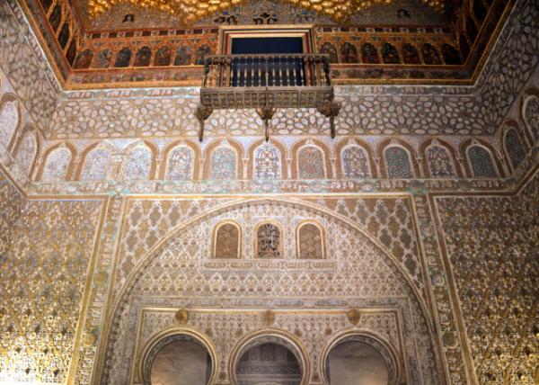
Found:
<svg viewBox="0 0 539 385"><path fill-rule="evenodd" d="M473 84L514 0L27 0L67 89L200 85L222 26L313 26L336 85Z"/></svg>

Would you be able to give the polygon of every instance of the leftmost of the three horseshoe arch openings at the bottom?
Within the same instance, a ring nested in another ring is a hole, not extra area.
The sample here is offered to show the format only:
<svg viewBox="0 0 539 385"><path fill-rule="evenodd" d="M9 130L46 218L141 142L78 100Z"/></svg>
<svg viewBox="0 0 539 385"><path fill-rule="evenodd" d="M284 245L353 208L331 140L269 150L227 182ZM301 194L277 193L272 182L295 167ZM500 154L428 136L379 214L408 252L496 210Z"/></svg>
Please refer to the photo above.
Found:
<svg viewBox="0 0 539 385"><path fill-rule="evenodd" d="M145 385L207 385L215 358L208 346L189 334L166 336L152 346L144 365Z"/></svg>

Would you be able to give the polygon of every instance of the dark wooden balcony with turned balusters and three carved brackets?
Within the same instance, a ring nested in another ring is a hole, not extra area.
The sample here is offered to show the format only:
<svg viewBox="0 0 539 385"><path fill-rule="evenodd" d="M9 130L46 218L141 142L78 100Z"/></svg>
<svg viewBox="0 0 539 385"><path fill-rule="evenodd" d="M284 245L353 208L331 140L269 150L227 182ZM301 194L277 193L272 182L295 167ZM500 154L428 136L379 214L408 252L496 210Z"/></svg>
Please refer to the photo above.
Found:
<svg viewBox="0 0 539 385"><path fill-rule="evenodd" d="M333 118L340 104L333 102L328 55L212 55L204 59L200 89L199 139L204 121L214 110L254 108L269 138L269 121L277 108L316 108Z"/></svg>

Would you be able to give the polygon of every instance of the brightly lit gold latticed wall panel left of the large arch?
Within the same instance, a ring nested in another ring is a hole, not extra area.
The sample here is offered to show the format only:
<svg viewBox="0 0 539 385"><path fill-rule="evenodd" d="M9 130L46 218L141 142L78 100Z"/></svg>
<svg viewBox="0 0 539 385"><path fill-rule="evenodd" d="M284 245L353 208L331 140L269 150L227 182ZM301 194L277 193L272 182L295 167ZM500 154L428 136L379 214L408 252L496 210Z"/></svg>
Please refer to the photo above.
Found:
<svg viewBox="0 0 539 385"><path fill-rule="evenodd" d="M0 264L0 381L66 381L101 210L102 200L25 202Z"/></svg>

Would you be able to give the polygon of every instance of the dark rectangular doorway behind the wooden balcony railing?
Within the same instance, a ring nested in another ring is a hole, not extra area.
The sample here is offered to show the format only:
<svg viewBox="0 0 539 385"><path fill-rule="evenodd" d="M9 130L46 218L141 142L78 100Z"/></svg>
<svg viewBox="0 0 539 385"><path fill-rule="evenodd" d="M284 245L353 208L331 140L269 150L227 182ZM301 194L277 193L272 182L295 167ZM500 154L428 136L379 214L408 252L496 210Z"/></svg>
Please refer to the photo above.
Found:
<svg viewBox="0 0 539 385"><path fill-rule="evenodd" d="M302 38L240 38L232 40L232 86L301 85L301 58L256 55L304 53ZM249 54L253 56L250 57ZM296 76L286 76L296 74Z"/></svg>

